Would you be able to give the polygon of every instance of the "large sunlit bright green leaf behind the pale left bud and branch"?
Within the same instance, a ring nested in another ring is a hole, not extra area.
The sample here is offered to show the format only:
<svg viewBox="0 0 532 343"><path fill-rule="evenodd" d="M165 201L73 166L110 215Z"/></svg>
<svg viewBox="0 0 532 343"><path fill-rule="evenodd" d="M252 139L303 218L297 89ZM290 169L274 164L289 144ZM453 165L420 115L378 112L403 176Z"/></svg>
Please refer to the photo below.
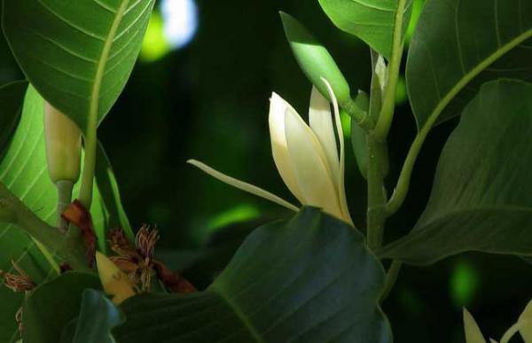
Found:
<svg viewBox="0 0 532 343"><path fill-rule="evenodd" d="M0 107L3 105L0 104ZM55 225L57 193L47 171L43 132L43 98L29 87L20 122L0 162L0 182L41 219ZM94 194L91 213L99 241L105 243L106 219L98 189ZM20 264L37 283L54 274L35 241L14 225L0 223L0 269L11 272L11 259ZM18 335L14 315L20 308L21 300L20 294L0 285L1 342L11 342Z"/></svg>

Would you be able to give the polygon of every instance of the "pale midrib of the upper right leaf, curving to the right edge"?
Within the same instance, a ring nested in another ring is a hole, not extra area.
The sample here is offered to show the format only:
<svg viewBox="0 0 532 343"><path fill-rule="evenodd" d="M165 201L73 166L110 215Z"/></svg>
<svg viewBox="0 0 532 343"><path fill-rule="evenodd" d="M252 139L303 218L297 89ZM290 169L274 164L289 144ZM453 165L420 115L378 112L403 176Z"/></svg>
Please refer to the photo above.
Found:
<svg viewBox="0 0 532 343"><path fill-rule="evenodd" d="M462 78L450 89L449 92L443 97L438 105L434 108L434 111L430 113L427 120L425 121L425 124L423 125L423 128L421 128L421 132L427 132L430 130L434 123L438 120L440 117L440 114L442 111L449 105L450 101L458 95L458 93L464 89L464 87L473 80L478 74L481 74L481 72L486 69L489 65L494 63L498 58L501 58L503 55L505 55L506 52L511 51L514 47L518 46L520 43L526 41L529 37L532 37L532 28L528 29L527 31L524 31L522 34L517 35L515 38L513 38L510 42L505 43L505 45L501 45L496 51L494 51L491 55L489 55L487 58L484 58L481 60L481 62L473 67L468 73L464 74ZM418 120L418 116L415 116L416 121ZM419 129L419 122L418 122L418 129Z"/></svg>

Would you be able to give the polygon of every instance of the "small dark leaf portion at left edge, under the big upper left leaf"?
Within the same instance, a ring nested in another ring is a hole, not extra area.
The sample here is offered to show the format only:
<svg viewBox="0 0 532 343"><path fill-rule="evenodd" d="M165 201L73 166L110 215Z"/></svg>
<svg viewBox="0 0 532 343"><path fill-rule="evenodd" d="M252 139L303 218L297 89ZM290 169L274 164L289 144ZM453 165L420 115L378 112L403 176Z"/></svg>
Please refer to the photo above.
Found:
<svg viewBox="0 0 532 343"><path fill-rule="evenodd" d="M11 82L0 87L0 155L17 129L26 90L26 81Z"/></svg>

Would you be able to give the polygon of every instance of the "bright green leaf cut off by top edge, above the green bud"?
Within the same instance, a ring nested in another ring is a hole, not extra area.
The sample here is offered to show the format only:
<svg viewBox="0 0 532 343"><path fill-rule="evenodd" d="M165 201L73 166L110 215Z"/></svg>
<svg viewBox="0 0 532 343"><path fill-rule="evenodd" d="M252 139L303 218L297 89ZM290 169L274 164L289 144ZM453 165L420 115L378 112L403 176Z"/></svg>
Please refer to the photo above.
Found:
<svg viewBox="0 0 532 343"><path fill-rule="evenodd" d="M319 0L334 25L356 35L385 58L391 58L395 13L401 0ZM411 0L403 11L403 34L411 16Z"/></svg>

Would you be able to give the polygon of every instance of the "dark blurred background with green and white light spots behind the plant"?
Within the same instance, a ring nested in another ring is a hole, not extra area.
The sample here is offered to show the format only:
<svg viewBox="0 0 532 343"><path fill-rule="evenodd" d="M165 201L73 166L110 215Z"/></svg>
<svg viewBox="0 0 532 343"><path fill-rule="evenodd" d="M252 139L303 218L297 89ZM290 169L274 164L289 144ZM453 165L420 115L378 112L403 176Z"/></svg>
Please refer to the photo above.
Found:
<svg viewBox="0 0 532 343"><path fill-rule="evenodd" d="M421 6L416 0L414 17ZM310 85L286 43L279 10L300 19L325 44L352 90L369 90L367 47L333 27L317 1L160 0L131 79L99 129L131 222L157 225L160 257L200 287L223 269L249 230L291 215L185 164L198 158L294 200L271 158L269 97L275 90L306 115ZM2 38L0 84L22 77ZM389 190L415 134L403 80L396 102ZM406 233L422 211L442 144L455 125L447 122L431 134L409 197L388 222L387 240ZM350 150L347 159L350 208L357 227L364 228L365 185ZM433 266L404 267L384 309L397 342L463 341L463 306L498 338L530 290L528 263L469 253Z"/></svg>

